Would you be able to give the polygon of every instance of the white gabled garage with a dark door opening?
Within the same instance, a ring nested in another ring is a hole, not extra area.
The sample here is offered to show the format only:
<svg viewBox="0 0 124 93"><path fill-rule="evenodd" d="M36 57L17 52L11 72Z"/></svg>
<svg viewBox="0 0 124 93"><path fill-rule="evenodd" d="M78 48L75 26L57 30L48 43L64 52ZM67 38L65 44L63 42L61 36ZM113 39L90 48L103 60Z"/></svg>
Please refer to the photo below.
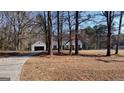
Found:
<svg viewBox="0 0 124 93"><path fill-rule="evenodd" d="M31 50L32 51L45 51L46 45L45 43L38 41L31 46Z"/></svg>

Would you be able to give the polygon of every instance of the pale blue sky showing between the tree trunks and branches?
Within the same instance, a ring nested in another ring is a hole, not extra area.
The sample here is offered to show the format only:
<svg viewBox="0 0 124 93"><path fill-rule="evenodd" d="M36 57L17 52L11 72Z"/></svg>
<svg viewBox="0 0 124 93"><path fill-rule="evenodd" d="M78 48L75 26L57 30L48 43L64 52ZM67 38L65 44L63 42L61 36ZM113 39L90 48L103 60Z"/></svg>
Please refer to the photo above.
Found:
<svg viewBox="0 0 124 93"><path fill-rule="evenodd" d="M37 14L43 14L43 11L30 11L30 12L32 12L30 16L34 17L34 18L36 18ZM67 13L67 11L65 11L65 12ZM73 12L72 14L75 13L75 11L72 11L72 12ZM90 18L90 21L82 22L79 26L79 29L84 29L88 26L94 27L95 25L99 25L99 24L105 24L106 25L106 22L105 22L106 19L104 16L98 15L100 13L101 13L101 11L81 11L80 12L81 19L85 19L87 17L87 15L89 15L89 14L92 16L92 18ZM56 11L52 11L52 19L54 18L53 23L56 22L55 16L56 16ZM67 17L67 14L64 14L64 17ZM101 20L102 21L104 20L104 22L100 22ZM75 22L75 20L73 20L73 22ZM119 17L115 18L114 22L115 22L115 27L118 30ZM122 24L124 24L124 17L123 17ZM53 30L55 30L55 29L53 29ZM64 29L68 30L68 23L67 22L64 24ZM74 29L74 26L73 26L73 29ZM121 32L124 34L124 26L122 27ZM118 31L114 31L114 34L117 34L117 33L118 33Z"/></svg>

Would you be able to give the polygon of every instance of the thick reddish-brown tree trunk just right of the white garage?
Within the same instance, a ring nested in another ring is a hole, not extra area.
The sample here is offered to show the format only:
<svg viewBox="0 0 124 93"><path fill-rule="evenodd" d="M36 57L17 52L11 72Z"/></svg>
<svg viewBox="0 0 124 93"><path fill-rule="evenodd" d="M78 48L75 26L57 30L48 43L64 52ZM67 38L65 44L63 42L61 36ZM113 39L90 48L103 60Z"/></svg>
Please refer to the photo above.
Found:
<svg viewBox="0 0 124 93"><path fill-rule="evenodd" d="M48 55L52 55L52 21L50 11L48 11Z"/></svg>

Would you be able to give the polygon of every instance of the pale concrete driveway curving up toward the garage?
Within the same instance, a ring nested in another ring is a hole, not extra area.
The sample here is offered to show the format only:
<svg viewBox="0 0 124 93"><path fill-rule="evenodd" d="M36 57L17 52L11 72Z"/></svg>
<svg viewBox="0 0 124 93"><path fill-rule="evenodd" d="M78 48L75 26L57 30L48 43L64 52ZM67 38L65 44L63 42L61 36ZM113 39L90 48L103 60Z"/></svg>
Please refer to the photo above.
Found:
<svg viewBox="0 0 124 93"><path fill-rule="evenodd" d="M27 55L18 55L8 58L0 58L0 80L20 80L20 74L23 64L33 55L37 54L29 53Z"/></svg>

